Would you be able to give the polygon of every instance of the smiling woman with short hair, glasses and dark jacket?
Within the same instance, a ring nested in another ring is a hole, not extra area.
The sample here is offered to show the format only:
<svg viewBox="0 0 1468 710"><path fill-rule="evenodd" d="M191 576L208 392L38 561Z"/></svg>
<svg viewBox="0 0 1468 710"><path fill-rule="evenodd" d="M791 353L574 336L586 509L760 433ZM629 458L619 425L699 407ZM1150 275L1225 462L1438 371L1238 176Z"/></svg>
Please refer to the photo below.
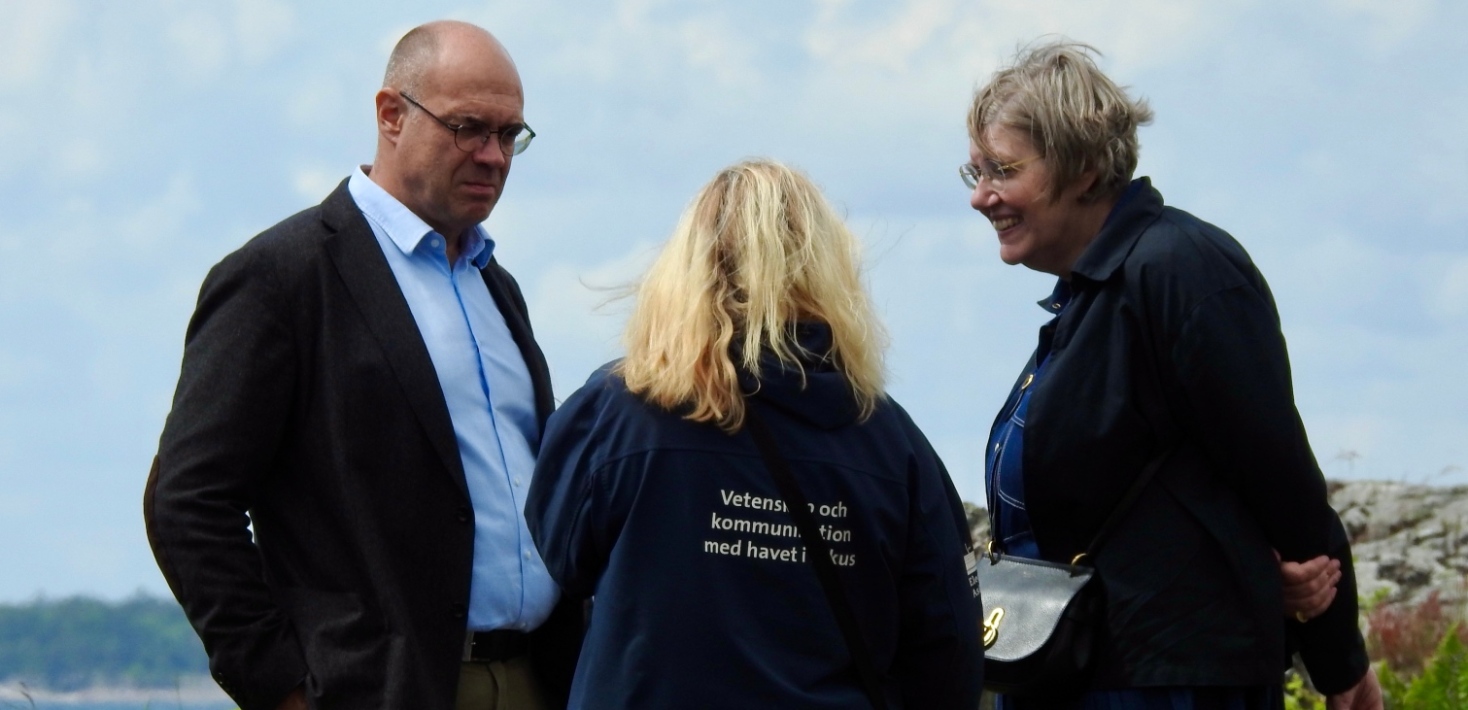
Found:
<svg viewBox="0 0 1468 710"><path fill-rule="evenodd" d="M1333 709L1380 707L1270 289L1232 236L1132 179L1152 111L1094 54L1025 48L969 111L970 204L1004 263L1057 276L991 428L994 546L1069 563L1148 464L1157 475L1092 560L1107 604L1086 687L1000 707L1282 709L1287 635ZM1340 560L1320 616L1284 621L1271 547Z"/></svg>

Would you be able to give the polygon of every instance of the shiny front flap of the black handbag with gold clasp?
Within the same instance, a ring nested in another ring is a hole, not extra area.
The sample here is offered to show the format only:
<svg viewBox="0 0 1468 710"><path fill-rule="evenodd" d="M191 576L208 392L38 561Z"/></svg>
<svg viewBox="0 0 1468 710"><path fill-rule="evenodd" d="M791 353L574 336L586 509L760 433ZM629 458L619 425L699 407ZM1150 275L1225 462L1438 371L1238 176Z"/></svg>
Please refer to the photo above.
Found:
<svg viewBox="0 0 1468 710"><path fill-rule="evenodd" d="M1017 662L1041 650L1094 574L1086 566L981 555L984 656Z"/></svg>

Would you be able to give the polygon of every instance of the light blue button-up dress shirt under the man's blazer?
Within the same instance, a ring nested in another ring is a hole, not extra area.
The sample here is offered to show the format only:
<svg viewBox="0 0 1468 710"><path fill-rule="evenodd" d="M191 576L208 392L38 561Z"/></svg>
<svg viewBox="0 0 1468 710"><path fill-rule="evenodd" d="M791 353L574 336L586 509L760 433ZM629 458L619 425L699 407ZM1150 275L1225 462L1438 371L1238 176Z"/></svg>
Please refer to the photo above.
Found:
<svg viewBox="0 0 1468 710"><path fill-rule="evenodd" d="M530 371L479 271L495 242L476 226L449 267L443 235L366 173L354 172L346 189L408 301L454 421L474 505L468 628L530 631L561 590L526 530L539 425Z"/></svg>

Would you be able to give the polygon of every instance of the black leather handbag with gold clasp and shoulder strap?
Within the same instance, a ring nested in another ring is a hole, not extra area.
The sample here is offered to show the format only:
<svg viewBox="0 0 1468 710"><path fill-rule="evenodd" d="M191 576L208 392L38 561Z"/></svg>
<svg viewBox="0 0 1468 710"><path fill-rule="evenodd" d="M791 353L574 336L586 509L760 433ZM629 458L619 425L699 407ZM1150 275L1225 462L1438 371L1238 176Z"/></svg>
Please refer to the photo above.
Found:
<svg viewBox="0 0 1468 710"><path fill-rule="evenodd" d="M985 688L1022 697L1063 697L1086 688L1105 621L1105 590L1091 560L1170 453L1142 469L1086 552L1069 565L1004 555L989 541L976 560Z"/></svg>

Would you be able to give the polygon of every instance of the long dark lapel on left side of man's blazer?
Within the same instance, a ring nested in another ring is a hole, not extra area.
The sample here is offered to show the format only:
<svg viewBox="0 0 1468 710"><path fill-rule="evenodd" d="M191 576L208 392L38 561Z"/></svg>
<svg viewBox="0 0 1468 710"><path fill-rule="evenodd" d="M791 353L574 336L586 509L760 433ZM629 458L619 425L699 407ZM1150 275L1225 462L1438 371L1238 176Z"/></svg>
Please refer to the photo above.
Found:
<svg viewBox="0 0 1468 710"><path fill-rule="evenodd" d="M327 252L336 273L346 285L352 301L361 308L367 327L377 339L402 395L407 398L423 433L443 461L454 484L468 496L464 462L459 459L443 387L439 384L429 348L423 343L418 324L413 320L408 301L402 298L392 267L383 257L371 226L346 191L346 180L321 202L321 220L336 235L327 241Z"/></svg>

